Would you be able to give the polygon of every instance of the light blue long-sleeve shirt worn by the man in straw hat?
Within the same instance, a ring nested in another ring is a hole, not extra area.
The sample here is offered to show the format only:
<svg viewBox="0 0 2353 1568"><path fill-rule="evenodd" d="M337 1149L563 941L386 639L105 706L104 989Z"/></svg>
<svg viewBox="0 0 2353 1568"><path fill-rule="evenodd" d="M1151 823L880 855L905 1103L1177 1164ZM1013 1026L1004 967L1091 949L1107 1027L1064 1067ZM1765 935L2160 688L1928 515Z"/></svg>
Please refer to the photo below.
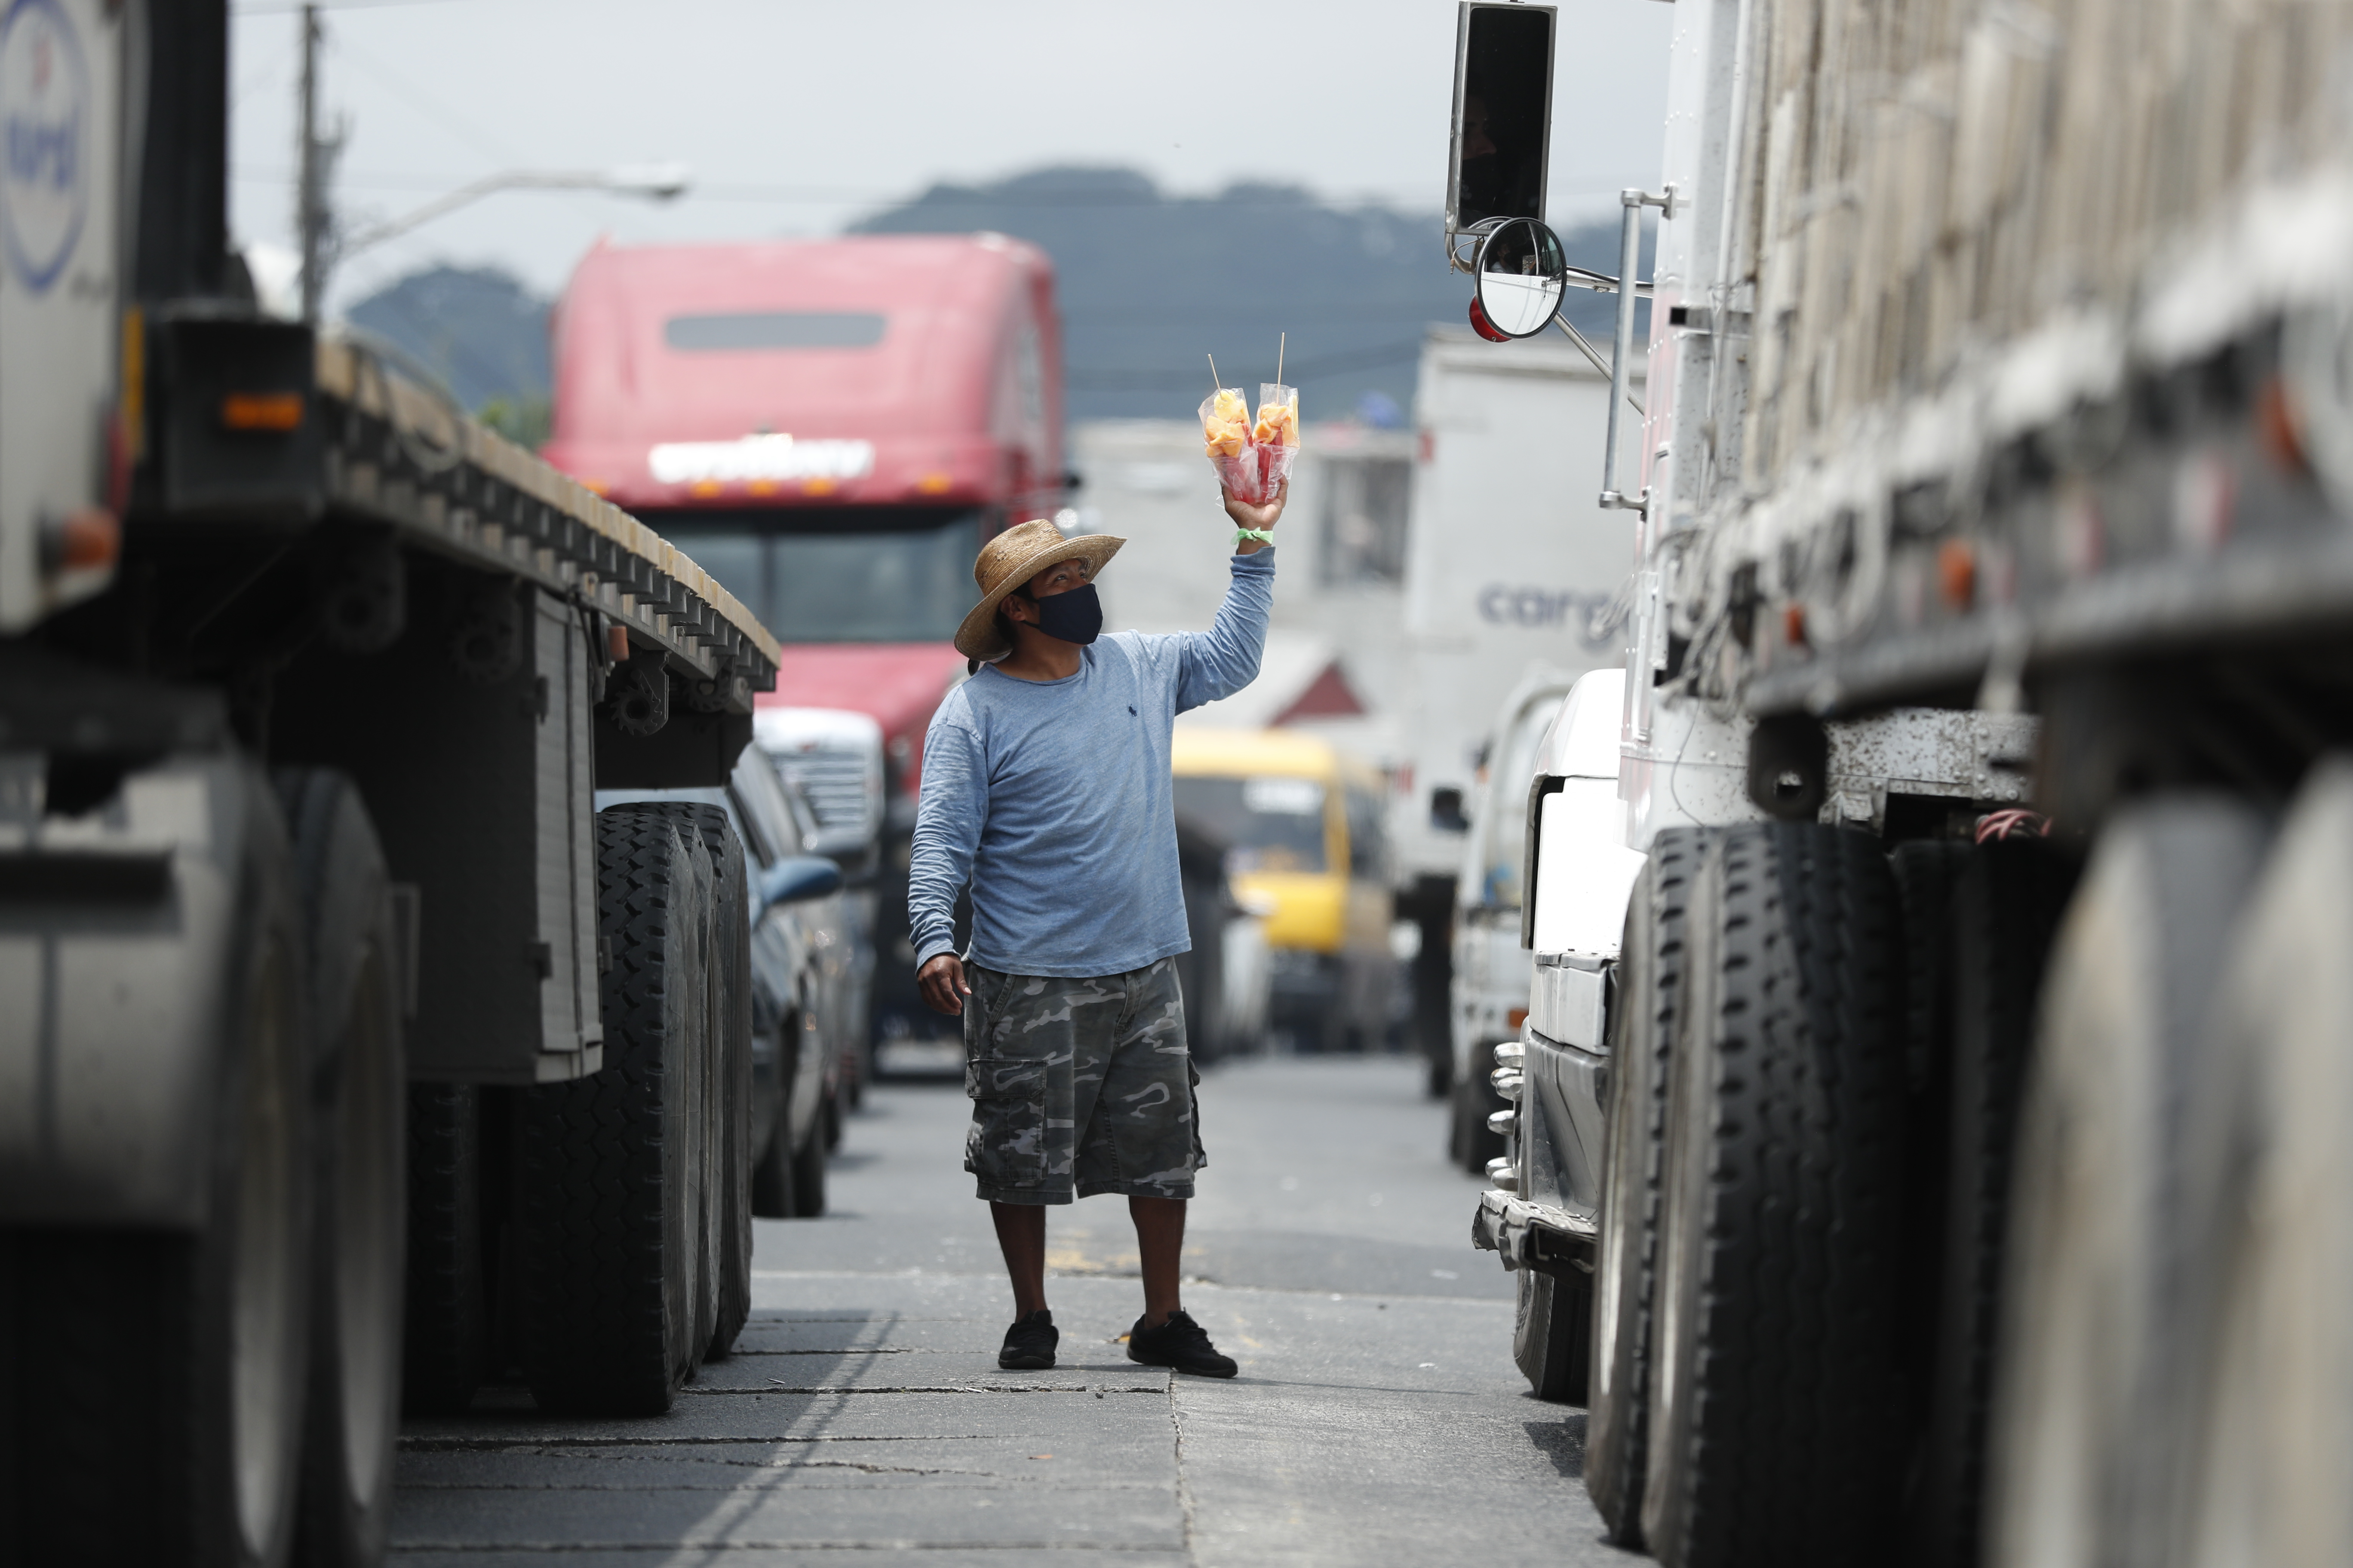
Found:
<svg viewBox="0 0 2353 1568"><path fill-rule="evenodd" d="M1193 943L1176 879L1169 731L1259 675L1275 552L1233 557L1207 632L1113 632L1078 675L981 665L922 741L906 879L915 964L955 950L972 884L972 961L1014 976L1115 976Z"/></svg>

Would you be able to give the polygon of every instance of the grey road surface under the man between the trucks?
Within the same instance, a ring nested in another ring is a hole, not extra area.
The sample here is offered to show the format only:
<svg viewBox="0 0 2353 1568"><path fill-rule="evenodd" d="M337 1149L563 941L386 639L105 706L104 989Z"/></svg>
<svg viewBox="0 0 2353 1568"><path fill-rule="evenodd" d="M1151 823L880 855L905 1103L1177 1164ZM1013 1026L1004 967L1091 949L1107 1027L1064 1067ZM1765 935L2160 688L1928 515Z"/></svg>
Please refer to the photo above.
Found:
<svg viewBox="0 0 2353 1568"><path fill-rule="evenodd" d="M1012 1316L955 1086L868 1095L833 1213L762 1222L736 1354L654 1420L544 1420L520 1389L409 1422L402 1563L1614 1563L1584 1413L1527 1396L1511 1279L1471 1251L1419 1065L1252 1060L1202 1081L1186 1307L1231 1382L1125 1359L1125 1204L1049 1220L1061 1356Z"/></svg>

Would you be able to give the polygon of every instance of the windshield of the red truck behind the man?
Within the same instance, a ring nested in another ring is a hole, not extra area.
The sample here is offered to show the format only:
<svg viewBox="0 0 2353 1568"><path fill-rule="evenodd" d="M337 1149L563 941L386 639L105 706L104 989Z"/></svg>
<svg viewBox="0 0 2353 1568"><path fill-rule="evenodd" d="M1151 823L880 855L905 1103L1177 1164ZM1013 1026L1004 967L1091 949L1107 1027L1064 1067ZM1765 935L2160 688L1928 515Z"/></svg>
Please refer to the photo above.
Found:
<svg viewBox="0 0 2353 1568"><path fill-rule="evenodd" d="M979 592L974 510L645 512L776 642L948 642Z"/></svg>

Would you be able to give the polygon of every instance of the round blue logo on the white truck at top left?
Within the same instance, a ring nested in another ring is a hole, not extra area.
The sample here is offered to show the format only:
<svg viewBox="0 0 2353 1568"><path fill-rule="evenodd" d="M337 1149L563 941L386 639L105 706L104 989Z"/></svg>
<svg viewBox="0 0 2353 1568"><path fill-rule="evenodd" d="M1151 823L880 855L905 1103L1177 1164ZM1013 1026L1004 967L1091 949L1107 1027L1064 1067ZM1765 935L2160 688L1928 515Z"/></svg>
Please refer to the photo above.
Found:
<svg viewBox="0 0 2353 1568"><path fill-rule="evenodd" d="M73 259L89 205L89 71L56 0L14 0L0 21L0 237L42 294Z"/></svg>

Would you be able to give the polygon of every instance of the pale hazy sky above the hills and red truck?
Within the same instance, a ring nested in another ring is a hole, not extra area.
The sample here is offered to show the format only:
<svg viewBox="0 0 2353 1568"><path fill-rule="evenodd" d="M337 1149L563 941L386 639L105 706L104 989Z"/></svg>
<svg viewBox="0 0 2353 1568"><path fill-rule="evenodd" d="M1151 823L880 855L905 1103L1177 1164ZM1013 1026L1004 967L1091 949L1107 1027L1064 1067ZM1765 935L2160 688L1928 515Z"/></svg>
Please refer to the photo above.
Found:
<svg viewBox="0 0 2353 1568"><path fill-rule="evenodd" d="M1560 5L1555 223L1657 181L1671 21L1659 0ZM1449 0L346 0L325 49L325 101L351 125L346 226L506 169L675 160L696 188L661 207L494 195L355 256L334 294L431 261L555 292L600 233L821 235L936 179L1047 162L1435 214L1452 54ZM242 0L240 240L292 237L296 59L294 7Z"/></svg>

